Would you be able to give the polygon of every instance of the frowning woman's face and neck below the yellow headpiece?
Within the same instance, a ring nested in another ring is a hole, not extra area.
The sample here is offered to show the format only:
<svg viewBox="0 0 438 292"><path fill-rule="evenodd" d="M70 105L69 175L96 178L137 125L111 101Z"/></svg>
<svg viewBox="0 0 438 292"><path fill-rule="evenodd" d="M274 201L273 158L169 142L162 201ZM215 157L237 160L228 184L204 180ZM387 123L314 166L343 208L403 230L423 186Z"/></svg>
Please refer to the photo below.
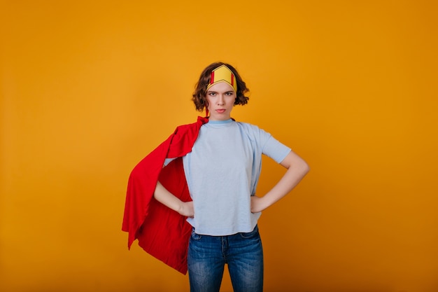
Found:
<svg viewBox="0 0 438 292"><path fill-rule="evenodd" d="M228 120L236 101L236 92L225 82L216 83L206 93L210 120Z"/></svg>

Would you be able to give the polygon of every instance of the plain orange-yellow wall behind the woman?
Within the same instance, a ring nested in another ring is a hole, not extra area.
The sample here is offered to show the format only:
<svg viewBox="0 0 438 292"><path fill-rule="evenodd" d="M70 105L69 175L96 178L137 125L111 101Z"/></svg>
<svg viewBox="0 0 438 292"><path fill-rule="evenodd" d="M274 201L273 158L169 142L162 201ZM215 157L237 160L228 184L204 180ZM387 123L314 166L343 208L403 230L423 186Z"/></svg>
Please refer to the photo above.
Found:
<svg viewBox="0 0 438 292"><path fill-rule="evenodd" d="M222 60L311 165L260 220L265 291L438 291L433 2L2 0L0 290L188 291L127 250L125 188Z"/></svg>

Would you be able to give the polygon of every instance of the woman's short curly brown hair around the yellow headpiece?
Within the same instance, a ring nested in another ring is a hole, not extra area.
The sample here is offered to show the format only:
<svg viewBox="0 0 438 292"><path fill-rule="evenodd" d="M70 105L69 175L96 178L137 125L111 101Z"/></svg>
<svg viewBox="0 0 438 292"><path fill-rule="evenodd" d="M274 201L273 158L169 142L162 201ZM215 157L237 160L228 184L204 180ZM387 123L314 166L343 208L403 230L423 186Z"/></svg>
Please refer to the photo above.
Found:
<svg viewBox="0 0 438 292"><path fill-rule="evenodd" d="M234 105L241 104L242 106L244 104L248 103L249 97L246 97L245 94L249 92L249 89L246 87L246 83L242 80L241 76L237 72L237 70L232 67L232 65L222 62L214 62L212 64L209 64L204 71L202 71L201 76L199 76L199 81L195 85L195 92L193 92L192 101L195 103L195 107L197 111L203 111L207 104L206 99L206 91L207 91L207 85L210 83L211 79L211 71L214 69L225 65L227 66L234 74L234 77L236 78L237 83L237 92L236 92L236 102L234 102Z"/></svg>

